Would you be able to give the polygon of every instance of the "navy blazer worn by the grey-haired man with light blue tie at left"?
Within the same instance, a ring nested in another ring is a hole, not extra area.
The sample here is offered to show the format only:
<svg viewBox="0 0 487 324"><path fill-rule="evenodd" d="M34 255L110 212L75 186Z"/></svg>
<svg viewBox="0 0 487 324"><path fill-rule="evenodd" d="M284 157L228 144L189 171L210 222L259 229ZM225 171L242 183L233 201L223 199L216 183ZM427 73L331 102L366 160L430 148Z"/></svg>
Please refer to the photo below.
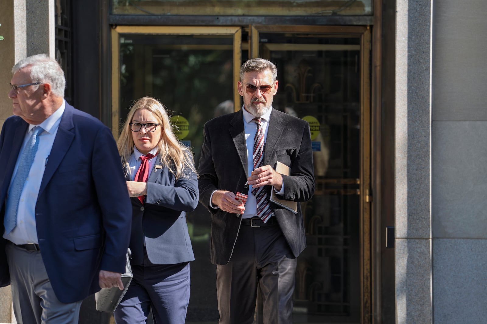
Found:
<svg viewBox="0 0 487 324"><path fill-rule="evenodd" d="M0 221L28 124L5 120L0 135ZM56 297L72 303L100 290L100 270L125 272L130 198L108 127L66 103L35 208L40 253ZM0 237L0 285L10 284Z"/></svg>

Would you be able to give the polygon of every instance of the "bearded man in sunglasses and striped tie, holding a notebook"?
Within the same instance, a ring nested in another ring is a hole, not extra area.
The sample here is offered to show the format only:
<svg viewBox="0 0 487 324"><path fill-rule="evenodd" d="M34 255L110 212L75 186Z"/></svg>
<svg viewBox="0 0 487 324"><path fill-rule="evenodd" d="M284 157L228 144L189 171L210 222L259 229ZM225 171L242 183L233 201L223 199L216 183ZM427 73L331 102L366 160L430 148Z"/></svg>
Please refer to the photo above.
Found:
<svg viewBox="0 0 487 324"><path fill-rule="evenodd" d="M276 78L273 63L246 61L243 108L205 124L199 189L211 213L220 324L253 323L258 295L259 322L292 323L297 257L306 247L299 202L311 198L315 180L309 124L272 107ZM275 171L278 162L289 175ZM297 202L297 213L270 201L272 191Z"/></svg>

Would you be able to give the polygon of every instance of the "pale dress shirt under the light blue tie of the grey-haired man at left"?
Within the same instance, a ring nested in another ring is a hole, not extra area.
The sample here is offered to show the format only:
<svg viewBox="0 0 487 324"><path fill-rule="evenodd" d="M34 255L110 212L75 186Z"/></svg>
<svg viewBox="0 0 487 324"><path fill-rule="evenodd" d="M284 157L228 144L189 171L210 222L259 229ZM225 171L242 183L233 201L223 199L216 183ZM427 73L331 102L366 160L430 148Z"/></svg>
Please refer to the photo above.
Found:
<svg viewBox="0 0 487 324"><path fill-rule="evenodd" d="M32 163L29 175L25 180L24 188L20 194L19 209L17 210L17 225L9 234L6 234L5 232L3 233L3 238L12 241L15 244L38 243L36 229L37 196L39 195L40 183L44 176L48 157L53 148L54 139L56 138L59 123L61 122L61 116L64 113L65 107L66 102L63 99L61 106L46 120L39 125L29 124L27 133L24 136L22 149L18 156L20 156L23 148L32 135L32 129L36 126L40 126L44 130L39 134L39 146L37 148L36 156L34 157L34 162ZM17 159L14 172L12 173L12 179L10 180L10 186L19 169L19 162L19 159Z"/></svg>

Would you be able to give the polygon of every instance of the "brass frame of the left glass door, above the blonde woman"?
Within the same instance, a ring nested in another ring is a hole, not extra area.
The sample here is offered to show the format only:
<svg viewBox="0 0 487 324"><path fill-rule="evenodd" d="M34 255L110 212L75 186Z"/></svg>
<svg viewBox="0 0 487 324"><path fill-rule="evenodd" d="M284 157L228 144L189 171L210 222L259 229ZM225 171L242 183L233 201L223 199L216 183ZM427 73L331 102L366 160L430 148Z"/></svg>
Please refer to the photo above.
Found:
<svg viewBox="0 0 487 324"><path fill-rule="evenodd" d="M118 138L120 110L120 34L164 34L164 35L232 35L233 36L233 102L235 111L242 106L237 83L240 80L242 62L241 27L199 27L199 26L117 26L112 29L112 134Z"/></svg>

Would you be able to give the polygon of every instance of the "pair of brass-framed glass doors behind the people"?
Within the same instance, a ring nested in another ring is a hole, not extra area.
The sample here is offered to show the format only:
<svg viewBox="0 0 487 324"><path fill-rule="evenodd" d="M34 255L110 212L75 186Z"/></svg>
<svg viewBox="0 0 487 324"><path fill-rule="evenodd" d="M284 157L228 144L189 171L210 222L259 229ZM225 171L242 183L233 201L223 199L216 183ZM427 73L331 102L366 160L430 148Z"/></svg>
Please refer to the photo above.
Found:
<svg viewBox="0 0 487 324"><path fill-rule="evenodd" d="M315 195L301 205L307 248L296 273L297 324L370 323L369 52L366 27L112 30L113 135L135 100L155 97L168 107L196 164L204 123L242 107L236 86L242 62L260 56L276 64L273 106L310 123L314 151ZM187 222L196 258L187 323L218 323L209 214L198 205Z"/></svg>

